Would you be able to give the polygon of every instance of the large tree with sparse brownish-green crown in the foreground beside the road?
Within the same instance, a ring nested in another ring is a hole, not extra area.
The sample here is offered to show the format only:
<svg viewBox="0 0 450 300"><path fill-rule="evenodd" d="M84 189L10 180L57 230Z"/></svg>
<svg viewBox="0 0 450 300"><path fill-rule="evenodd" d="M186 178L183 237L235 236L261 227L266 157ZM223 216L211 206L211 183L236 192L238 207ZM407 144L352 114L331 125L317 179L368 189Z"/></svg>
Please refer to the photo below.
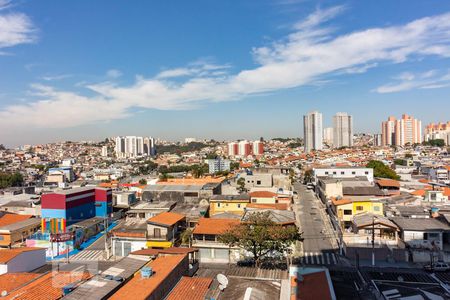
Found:
<svg viewBox="0 0 450 300"><path fill-rule="evenodd" d="M253 261L258 265L264 256L283 254L294 242L302 241L302 237L295 225L284 227L270 219L270 212L256 212L229 228L219 240L252 253Z"/></svg>

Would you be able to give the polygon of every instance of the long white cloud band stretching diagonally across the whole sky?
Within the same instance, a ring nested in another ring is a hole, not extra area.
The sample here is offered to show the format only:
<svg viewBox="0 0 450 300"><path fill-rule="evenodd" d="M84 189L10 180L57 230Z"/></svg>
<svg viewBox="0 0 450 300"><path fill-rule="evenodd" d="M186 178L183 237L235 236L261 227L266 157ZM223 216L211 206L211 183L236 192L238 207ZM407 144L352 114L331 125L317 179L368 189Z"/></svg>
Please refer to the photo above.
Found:
<svg viewBox="0 0 450 300"><path fill-rule="evenodd" d="M151 78L136 76L131 85L110 82L88 85L86 88L95 92L95 96L89 97L39 86L39 101L0 110L0 127L10 124L68 127L124 118L136 108L192 109L205 103L234 101L323 82L325 75L363 73L380 63L425 59L429 55L448 56L445 49L450 47L450 13L400 26L336 35L323 23L343 10L341 6L318 10L298 22L285 38L254 48L255 68L231 73L229 65L200 61L163 70ZM425 79L430 81L430 77ZM410 89L410 81L378 92ZM421 86L430 87L431 82Z"/></svg>

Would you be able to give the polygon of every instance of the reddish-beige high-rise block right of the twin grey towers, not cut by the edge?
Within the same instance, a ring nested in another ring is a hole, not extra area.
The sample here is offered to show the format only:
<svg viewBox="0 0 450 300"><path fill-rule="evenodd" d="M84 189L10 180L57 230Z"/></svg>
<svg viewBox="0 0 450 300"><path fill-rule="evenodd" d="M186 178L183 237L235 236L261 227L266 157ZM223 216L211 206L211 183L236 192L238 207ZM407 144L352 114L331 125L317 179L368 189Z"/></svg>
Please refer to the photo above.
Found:
<svg viewBox="0 0 450 300"><path fill-rule="evenodd" d="M406 114L396 120L395 117L381 124L383 146L404 146L422 143L422 122Z"/></svg>

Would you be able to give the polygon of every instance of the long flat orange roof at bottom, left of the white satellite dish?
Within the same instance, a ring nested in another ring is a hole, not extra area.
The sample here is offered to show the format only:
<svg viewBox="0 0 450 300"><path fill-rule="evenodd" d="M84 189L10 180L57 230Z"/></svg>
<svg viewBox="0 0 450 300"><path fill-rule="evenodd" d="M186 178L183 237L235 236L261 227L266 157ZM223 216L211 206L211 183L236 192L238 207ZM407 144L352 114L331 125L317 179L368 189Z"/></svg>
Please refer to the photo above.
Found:
<svg viewBox="0 0 450 300"><path fill-rule="evenodd" d="M173 255L158 257L149 266L153 270L153 275L149 278L142 278L137 272L125 285L123 285L110 300L114 299L147 299L150 298L156 288L166 280L170 273L185 259L186 255Z"/></svg>

